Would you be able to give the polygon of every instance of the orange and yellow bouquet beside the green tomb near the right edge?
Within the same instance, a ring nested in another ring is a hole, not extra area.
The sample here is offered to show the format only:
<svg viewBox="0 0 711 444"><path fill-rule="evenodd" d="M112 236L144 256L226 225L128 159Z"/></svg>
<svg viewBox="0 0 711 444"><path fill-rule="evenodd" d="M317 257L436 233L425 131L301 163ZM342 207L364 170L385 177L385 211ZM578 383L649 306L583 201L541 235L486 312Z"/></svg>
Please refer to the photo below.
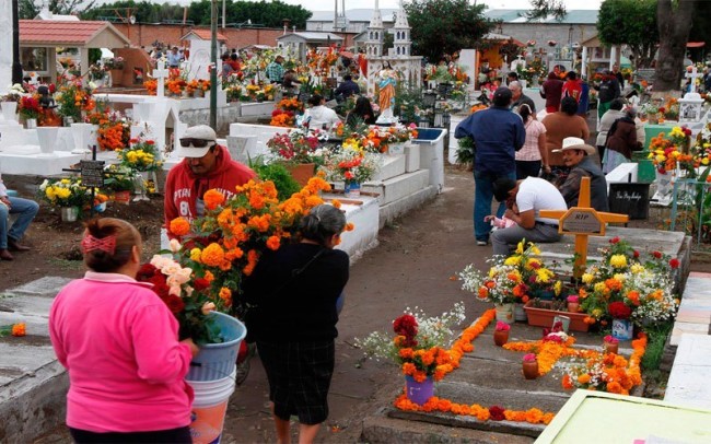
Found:
<svg viewBox="0 0 711 444"><path fill-rule="evenodd" d="M650 142L649 159L661 174L675 171L677 167L685 171L690 177L696 176L696 168L706 162L708 155L697 156L689 151L691 130L687 127L674 127L666 133L660 133Z"/></svg>

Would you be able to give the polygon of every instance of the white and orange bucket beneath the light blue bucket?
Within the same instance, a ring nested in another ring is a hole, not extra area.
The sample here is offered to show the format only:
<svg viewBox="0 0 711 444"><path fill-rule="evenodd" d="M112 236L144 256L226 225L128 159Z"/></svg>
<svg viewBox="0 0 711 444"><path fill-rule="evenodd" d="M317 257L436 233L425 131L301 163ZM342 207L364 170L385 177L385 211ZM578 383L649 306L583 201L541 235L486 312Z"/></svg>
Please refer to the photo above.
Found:
<svg viewBox="0 0 711 444"><path fill-rule="evenodd" d="M230 377L214 381L186 381L195 392L190 422L194 444L219 444L230 396L234 393L235 367Z"/></svg>

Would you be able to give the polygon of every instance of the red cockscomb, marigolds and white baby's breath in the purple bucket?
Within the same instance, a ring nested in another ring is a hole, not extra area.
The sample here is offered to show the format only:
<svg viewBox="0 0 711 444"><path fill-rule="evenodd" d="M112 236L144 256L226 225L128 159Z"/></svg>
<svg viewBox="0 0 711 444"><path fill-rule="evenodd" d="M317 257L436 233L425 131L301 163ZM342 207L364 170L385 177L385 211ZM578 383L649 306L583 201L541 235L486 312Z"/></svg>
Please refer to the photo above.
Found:
<svg viewBox="0 0 711 444"><path fill-rule="evenodd" d="M393 322L395 338L383 331L374 331L364 339L356 339L370 359L394 362L406 376L417 382L428 377L440 381L452 372L452 355L446 350L452 344L452 327L465 319L464 303L454 304L441 316L427 316L418 309L406 308L405 314Z"/></svg>

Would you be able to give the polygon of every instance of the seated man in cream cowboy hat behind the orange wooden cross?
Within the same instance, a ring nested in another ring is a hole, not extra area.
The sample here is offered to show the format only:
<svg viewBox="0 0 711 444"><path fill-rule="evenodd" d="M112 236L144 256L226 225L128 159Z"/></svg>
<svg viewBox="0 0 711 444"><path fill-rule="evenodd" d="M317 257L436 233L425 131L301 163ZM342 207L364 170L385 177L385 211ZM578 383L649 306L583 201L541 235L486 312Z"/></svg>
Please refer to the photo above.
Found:
<svg viewBox="0 0 711 444"><path fill-rule="evenodd" d="M580 183L583 177L590 177L590 205L597 211L609 211L607 203L607 180L597 163L591 157L597 150L585 144L583 139L567 137L560 152L563 163L571 168L566 182L560 186L560 194L566 199L568 208L578 206Z"/></svg>

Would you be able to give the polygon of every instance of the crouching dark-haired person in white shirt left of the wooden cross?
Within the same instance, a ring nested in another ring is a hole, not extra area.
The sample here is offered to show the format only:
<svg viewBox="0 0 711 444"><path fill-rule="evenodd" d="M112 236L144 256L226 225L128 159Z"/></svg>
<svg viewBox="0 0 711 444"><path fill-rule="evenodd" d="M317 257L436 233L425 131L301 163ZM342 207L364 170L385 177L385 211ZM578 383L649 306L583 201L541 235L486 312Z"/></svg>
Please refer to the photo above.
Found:
<svg viewBox="0 0 711 444"><path fill-rule="evenodd" d="M514 180L500 177L493 183L493 196L500 202L514 199L518 211L506 209L504 215L516 225L491 233L494 255L508 256L510 245L526 239L536 243L558 242L558 220L541 218L540 210L567 210L566 199L558 188L539 177Z"/></svg>

